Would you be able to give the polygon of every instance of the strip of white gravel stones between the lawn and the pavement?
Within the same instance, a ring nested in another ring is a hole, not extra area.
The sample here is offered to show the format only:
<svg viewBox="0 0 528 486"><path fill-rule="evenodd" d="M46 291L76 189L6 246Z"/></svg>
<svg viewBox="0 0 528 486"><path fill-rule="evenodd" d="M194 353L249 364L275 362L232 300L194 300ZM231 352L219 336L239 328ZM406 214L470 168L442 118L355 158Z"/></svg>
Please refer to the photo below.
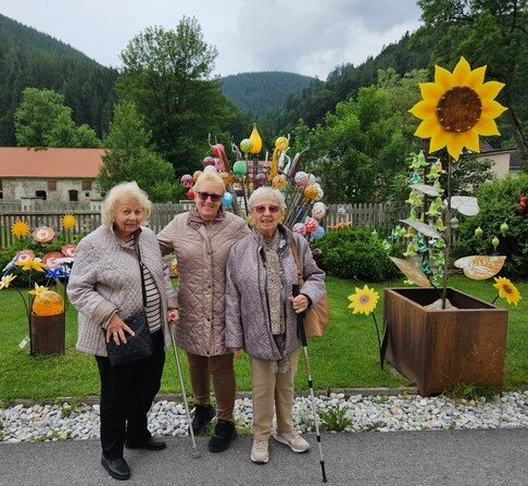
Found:
<svg viewBox="0 0 528 486"><path fill-rule="evenodd" d="M528 390L498 395L494 400L453 400L444 396L423 398L417 395L362 396L344 394L316 397L323 429L347 432L390 432L453 428L528 427ZM312 432L310 397L297 397L293 407L296 426ZM240 433L251 432L250 398L237 399L235 408ZM187 435L183 402L161 400L149 414L154 436ZM0 409L0 441L43 441L99 438L99 406L64 402L62 404L17 404Z"/></svg>

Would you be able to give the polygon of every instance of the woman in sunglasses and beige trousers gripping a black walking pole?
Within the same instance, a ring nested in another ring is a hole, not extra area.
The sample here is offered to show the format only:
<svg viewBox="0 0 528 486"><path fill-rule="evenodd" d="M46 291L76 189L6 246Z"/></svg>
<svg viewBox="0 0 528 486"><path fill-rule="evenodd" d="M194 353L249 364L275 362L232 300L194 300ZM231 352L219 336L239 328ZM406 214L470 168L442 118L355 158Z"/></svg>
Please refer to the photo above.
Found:
<svg viewBox="0 0 528 486"><path fill-rule="evenodd" d="M310 444L293 428L293 378L301 342L297 314L324 295L325 273L317 267L307 241L280 224L286 208L278 189L261 187L249 199L251 235L232 246L227 261L226 346L251 360L253 446L251 460L267 462L273 410L277 428L273 437L304 452ZM292 297L298 269L290 241L294 239L304 284Z"/></svg>

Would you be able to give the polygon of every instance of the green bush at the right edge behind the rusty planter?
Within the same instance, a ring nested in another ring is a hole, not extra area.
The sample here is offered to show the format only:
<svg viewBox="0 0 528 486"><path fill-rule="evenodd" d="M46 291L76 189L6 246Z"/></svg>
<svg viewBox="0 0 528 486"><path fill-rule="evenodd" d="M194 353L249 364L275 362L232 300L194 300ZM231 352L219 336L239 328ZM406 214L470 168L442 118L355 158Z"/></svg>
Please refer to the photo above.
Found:
<svg viewBox="0 0 528 486"><path fill-rule="evenodd" d="M475 196L480 212L466 217L456 234L453 258L470 254L494 254L491 240L499 238L496 254L506 256L501 275L514 278L528 277L528 214L517 210L521 195L528 196L528 174L508 176L480 186ZM508 230L501 234L501 224L506 223ZM475 229L480 226L482 236L477 238Z"/></svg>

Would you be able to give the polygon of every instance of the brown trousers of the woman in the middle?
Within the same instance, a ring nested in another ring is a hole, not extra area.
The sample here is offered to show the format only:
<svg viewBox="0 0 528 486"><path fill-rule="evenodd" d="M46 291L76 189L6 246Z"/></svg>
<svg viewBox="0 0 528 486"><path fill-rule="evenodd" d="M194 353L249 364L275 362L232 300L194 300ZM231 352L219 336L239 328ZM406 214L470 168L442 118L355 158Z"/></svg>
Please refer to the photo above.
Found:
<svg viewBox="0 0 528 486"><path fill-rule="evenodd" d="M234 422L237 385L232 369L232 353L205 357L188 352L187 361L194 403L211 403L211 377L213 377L217 416L219 420Z"/></svg>

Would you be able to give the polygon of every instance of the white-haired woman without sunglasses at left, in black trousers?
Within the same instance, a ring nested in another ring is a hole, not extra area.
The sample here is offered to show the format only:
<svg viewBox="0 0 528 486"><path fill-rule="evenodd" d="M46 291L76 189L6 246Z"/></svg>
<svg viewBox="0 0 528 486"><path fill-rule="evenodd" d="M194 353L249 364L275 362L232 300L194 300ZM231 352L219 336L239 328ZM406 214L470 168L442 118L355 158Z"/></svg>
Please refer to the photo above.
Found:
<svg viewBox="0 0 528 486"><path fill-rule="evenodd" d="M67 294L78 309L77 349L93 354L101 378L101 463L115 479L130 469L123 448L159 450L163 440L147 428L147 412L160 390L169 345L168 320L177 319L176 295L154 233L142 227L151 203L136 183L123 183L104 200L102 225L83 238L75 253ZM138 252L141 254L141 267ZM105 341L126 346L134 332L123 321L142 308L141 276L154 352L131 363L112 366Z"/></svg>

